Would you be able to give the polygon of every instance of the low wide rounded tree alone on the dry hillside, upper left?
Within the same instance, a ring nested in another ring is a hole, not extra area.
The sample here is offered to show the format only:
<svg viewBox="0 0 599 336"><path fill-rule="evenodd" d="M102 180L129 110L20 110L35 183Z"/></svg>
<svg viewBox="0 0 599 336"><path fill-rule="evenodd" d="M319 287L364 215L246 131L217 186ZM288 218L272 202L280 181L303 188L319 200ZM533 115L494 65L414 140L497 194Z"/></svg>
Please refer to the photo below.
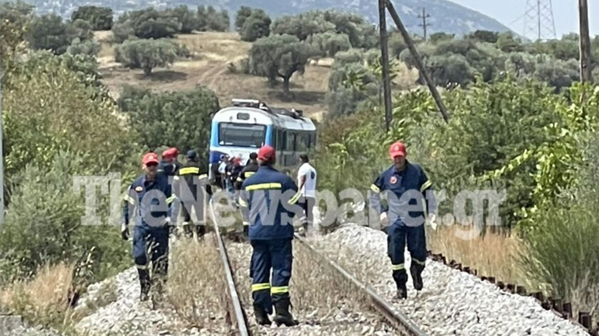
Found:
<svg viewBox="0 0 599 336"><path fill-rule="evenodd" d="M114 48L114 60L127 68L143 69L149 76L158 66L173 64L179 49L170 41L162 39L137 39L125 41Z"/></svg>

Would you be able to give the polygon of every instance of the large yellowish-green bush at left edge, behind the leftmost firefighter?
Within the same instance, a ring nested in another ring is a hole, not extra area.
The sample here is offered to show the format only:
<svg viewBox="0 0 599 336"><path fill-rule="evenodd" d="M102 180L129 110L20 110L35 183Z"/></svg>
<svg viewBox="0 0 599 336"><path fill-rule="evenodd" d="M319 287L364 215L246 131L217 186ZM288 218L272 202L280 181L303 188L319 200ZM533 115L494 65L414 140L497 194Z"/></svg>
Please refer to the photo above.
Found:
<svg viewBox="0 0 599 336"><path fill-rule="evenodd" d="M5 74L2 96L5 174L27 164L52 166L59 151L88 153L96 173L120 170L131 158L135 133L123 126L107 89L85 56L33 53ZM81 167L83 170L84 167Z"/></svg>

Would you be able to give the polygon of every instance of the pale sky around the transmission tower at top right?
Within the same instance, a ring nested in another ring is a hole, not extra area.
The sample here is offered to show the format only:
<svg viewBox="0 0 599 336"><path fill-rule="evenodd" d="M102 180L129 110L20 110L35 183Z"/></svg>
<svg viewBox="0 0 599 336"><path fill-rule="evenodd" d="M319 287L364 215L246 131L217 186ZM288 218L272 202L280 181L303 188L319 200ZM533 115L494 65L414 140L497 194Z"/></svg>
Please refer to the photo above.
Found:
<svg viewBox="0 0 599 336"><path fill-rule="evenodd" d="M524 32L523 14L527 0L450 0L456 4L479 11L503 23L516 33ZM547 1L547 0L544 0ZM536 1L534 1L536 2ZM553 21L558 37L565 33L577 32L578 1L577 0L551 0L553 7ZM589 29L591 36L599 35L599 0L588 0ZM516 21L517 20L517 21Z"/></svg>

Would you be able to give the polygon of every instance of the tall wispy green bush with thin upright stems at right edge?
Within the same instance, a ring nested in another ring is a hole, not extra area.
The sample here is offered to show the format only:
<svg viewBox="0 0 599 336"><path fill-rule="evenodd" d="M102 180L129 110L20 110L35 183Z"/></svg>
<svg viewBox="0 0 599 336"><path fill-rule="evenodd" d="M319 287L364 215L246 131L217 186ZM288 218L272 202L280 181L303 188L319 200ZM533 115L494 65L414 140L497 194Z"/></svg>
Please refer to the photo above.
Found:
<svg viewBox="0 0 599 336"><path fill-rule="evenodd" d="M581 135L582 136L582 135ZM543 206L535 217L539 230L524 236L521 263L531 279L549 285L553 297L579 310L599 308L599 139L580 140L585 161L578 165L579 187L565 190L560 201ZM559 204L559 205L558 205Z"/></svg>

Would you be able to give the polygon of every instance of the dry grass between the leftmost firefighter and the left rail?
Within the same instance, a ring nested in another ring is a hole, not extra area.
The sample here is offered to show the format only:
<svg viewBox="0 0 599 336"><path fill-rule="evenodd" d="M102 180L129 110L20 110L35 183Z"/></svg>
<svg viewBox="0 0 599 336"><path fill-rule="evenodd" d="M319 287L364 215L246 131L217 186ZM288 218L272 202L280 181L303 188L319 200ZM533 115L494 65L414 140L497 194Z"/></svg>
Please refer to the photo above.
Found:
<svg viewBox="0 0 599 336"><path fill-rule="evenodd" d="M204 242L184 239L173 246L166 298L190 326L220 328L229 301L212 234Z"/></svg>

